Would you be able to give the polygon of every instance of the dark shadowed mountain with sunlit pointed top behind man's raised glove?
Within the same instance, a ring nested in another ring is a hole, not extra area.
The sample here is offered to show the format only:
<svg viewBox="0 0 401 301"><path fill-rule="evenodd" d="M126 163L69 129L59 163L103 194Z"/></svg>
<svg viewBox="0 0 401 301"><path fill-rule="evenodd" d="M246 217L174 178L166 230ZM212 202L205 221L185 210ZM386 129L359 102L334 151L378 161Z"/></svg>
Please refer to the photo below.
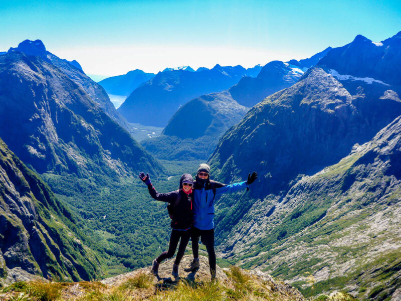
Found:
<svg viewBox="0 0 401 301"><path fill-rule="evenodd" d="M397 87L341 83L312 67L254 106L223 136L211 162L222 175L232 175L234 167L241 176L259 170L268 175L261 179L264 192L280 194L298 175L334 164L401 114L398 95Z"/></svg>

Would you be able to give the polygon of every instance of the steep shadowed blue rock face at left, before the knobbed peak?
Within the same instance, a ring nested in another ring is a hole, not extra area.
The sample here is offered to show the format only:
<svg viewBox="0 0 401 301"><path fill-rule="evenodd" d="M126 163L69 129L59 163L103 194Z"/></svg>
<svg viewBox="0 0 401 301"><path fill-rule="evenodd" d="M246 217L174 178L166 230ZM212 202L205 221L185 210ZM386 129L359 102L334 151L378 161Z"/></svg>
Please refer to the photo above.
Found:
<svg viewBox="0 0 401 301"><path fill-rule="evenodd" d="M161 171L80 85L39 56L0 56L0 104L0 137L39 173Z"/></svg>

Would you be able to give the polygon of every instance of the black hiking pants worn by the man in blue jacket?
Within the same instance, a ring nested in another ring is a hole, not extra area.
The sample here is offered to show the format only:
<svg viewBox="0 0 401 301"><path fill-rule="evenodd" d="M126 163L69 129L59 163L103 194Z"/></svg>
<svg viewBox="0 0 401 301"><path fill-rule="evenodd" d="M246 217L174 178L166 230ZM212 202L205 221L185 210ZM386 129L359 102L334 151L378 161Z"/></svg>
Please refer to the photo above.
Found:
<svg viewBox="0 0 401 301"><path fill-rule="evenodd" d="M206 246L209 255L210 273L212 276L216 275L216 252L215 252L215 229L199 230L198 228L191 228L191 241L193 258L199 257L199 236L200 241Z"/></svg>

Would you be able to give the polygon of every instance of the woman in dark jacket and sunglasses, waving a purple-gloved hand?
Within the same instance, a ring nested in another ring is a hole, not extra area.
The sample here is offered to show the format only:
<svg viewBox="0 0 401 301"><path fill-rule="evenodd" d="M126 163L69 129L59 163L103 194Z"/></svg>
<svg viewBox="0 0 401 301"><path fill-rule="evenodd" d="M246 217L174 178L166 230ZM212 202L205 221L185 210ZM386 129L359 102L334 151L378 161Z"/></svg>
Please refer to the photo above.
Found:
<svg viewBox="0 0 401 301"><path fill-rule="evenodd" d="M170 227L172 230L168 251L164 251L153 260L151 273L158 274L159 264L164 259L171 258L174 255L178 241L181 239L171 272L171 275L178 277L178 265L188 244L190 238L189 229L192 226L192 176L183 174L179 181L179 190L169 193L158 193L150 182L149 174L145 176L144 173L140 173L139 179L147 185L149 194L153 199L170 204L168 212L171 218Z"/></svg>

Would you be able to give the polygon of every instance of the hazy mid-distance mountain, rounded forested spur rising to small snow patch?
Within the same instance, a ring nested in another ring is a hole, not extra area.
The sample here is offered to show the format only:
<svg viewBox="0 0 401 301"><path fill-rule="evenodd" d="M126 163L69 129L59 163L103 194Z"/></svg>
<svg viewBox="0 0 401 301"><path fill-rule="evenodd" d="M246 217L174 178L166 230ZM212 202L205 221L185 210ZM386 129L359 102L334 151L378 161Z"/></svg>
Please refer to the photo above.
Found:
<svg viewBox="0 0 401 301"><path fill-rule="evenodd" d="M306 63L315 62L331 48L327 48L306 61L302 70L295 60L290 65L273 61L260 70L256 78L243 77L230 89L197 97L188 101L171 117L161 135L144 139L141 144L158 159L163 160L206 160L217 146L220 137L245 116L249 107L266 96L296 83L302 76ZM248 69L249 70L249 69ZM191 131L182 129L191 128Z"/></svg>

